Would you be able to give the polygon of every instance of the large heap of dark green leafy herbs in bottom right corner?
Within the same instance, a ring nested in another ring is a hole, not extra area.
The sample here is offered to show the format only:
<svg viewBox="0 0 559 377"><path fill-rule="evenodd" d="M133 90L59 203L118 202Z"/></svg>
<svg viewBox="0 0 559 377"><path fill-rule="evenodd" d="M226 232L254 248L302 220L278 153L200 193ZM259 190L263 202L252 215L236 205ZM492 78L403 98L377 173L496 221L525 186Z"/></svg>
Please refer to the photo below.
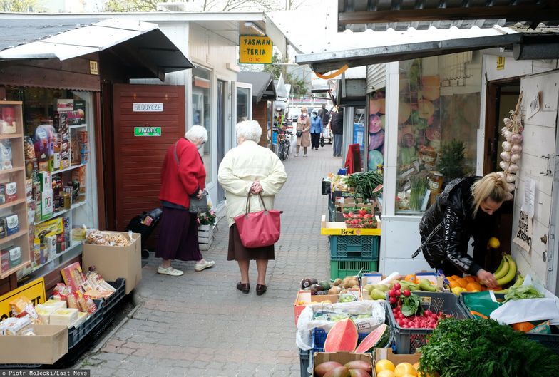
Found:
<svg viewBox="0 0 559 377"><path fill-rule="evenodd" d="M440 377L555 377L559 356L496 321L443 319L421 347L419 371Z"/></svg>

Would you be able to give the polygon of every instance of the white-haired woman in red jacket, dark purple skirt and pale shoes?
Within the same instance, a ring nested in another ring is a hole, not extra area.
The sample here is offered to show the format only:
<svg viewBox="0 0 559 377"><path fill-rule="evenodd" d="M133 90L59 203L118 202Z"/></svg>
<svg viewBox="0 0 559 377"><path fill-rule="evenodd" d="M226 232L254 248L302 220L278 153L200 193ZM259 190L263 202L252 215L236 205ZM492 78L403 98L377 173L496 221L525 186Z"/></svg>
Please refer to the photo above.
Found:
<svg viewBox="0 0 559 377"><path fill-rule="evenodd" d="M171 267L173 259L196 261L195 271L212 267L215 262L206 261L198 246L196 214L188 212L191 197L202 197L206 170L198 148L207 140L207 131L194 125L170 146L163 161L159 200L163 204L163 218L159 232L156 257L163 258L159 274L178 277L182 271Z"/></svg>

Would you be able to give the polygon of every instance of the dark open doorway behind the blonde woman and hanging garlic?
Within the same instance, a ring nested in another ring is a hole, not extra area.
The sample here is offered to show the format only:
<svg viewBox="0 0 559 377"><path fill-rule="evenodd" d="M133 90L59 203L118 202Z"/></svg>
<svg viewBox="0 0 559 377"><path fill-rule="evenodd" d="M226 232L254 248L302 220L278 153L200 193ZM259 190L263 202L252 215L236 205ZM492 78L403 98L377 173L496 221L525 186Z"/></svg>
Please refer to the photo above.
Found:
<svg viewBox="0 0 559 377"><path fill-rule="evenodd" d="M491 81L487 84L483 175L503 170L499 166L501 160L499 155L503 152L503 141L505 141L501 133L504 125L503 118L509 115L510 110L516 108L519 94L520 78ZM500 212L496 233L493 235L499 239L501 247L491 254L486 254L485 268L488 271L495 271L501 262L501 253L511 250L514 202L504 202Z"/></svg>

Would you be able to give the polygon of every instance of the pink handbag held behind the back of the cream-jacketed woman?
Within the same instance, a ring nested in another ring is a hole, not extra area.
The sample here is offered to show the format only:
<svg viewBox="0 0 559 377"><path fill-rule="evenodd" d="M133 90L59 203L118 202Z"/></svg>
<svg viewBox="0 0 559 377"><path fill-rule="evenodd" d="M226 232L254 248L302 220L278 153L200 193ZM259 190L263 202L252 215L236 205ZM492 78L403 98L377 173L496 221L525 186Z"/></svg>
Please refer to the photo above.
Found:
<svg viewBox="0 0 559 377"><path fill-rule="evenodd" d="M244 247L265 247L275 244L279 239L281 224L279 215L282 213L277 210L268 210L262 200L262 195L258 194L262 202L263 211L250 212L250 193L247 197L247 207L243 215L236 216L235 224Z"/></svg>

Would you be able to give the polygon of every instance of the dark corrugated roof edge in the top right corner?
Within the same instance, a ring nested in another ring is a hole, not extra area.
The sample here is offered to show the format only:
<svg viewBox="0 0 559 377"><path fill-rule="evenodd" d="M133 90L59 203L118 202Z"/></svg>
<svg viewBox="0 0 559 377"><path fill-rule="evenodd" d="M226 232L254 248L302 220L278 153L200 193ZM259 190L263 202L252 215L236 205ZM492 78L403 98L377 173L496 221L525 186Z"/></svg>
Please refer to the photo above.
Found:
<svg viewBox="0 0 559 377"><path fill-rule="evenodd" d="M559 24L555 0L338 0L339 31Z"/></svg>

